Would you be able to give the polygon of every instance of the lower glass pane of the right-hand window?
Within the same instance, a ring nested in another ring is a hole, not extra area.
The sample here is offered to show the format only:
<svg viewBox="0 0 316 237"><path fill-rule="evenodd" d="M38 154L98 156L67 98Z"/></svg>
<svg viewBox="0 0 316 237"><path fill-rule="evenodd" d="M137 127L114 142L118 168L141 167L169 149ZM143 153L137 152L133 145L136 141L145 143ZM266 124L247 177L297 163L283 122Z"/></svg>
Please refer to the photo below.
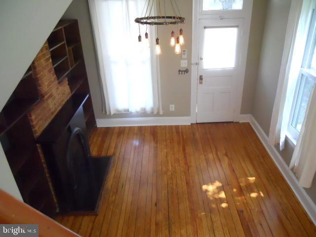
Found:
<svg viewBox="0 0 316 237"><path fill-rule="evenodd" d="M310 99L315 80L302 75L300 88L298 91L297 101L295 105L292 126L299 133L305 118L305 113Z"/></svg>

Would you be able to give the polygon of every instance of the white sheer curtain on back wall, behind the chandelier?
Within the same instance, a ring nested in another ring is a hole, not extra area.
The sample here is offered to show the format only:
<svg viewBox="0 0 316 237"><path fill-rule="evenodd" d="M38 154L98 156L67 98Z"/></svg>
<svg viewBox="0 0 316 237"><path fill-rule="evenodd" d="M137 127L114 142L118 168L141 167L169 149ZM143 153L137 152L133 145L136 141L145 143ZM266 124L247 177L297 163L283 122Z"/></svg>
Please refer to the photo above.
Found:
<svg viewBox="0 0 316 237"><path fill-rule="evenodd" d="M158 59L153 46L138 42L139 26L134 22L144 4L145 0L89 0L107 114L162 114ZM144 42L146 26L140 31ZM155 28L148 27L148 33L154 42Z"/></svg>

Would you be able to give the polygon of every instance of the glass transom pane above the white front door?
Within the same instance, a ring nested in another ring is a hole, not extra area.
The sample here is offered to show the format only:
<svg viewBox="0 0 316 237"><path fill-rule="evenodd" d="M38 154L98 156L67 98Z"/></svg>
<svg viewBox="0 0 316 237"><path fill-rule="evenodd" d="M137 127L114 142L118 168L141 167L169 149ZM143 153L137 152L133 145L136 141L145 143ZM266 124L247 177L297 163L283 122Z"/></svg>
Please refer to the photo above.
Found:
<svg viewBox="0 0 316 237"><path fill-rule="evenodd" d="M242 9L242 0L203 0L203 11L240 9Z"/></svg>

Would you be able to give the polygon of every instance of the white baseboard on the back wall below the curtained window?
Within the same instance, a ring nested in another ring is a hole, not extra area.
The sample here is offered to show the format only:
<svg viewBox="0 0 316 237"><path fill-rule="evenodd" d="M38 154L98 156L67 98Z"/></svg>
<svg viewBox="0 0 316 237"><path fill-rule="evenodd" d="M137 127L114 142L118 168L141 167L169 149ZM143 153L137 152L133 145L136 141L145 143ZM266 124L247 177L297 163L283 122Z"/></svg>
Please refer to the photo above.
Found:
<svg viewBox="0 0 316 237"><path fill-rule="evenodd" d="M144 117L96 119L97 127L190 125L191 117Z"/></svg>

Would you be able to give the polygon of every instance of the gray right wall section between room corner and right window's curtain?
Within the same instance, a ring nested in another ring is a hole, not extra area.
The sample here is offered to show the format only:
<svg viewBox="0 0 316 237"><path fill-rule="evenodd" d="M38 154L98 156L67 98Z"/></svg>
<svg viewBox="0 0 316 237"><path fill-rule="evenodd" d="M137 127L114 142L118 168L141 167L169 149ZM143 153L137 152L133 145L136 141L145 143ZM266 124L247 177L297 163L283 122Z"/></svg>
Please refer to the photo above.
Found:
<svg viewBox="0 0 316 237"><path fill-rule="evenodd" d="M291 0L269 0L252 115L269 135Z"/></svg>

